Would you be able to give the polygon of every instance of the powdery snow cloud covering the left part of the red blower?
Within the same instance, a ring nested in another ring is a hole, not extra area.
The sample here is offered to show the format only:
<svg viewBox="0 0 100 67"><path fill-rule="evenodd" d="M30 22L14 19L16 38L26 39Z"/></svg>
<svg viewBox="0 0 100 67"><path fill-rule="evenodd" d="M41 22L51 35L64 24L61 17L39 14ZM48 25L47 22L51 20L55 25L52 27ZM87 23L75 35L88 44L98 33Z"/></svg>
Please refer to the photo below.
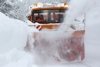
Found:
<svg viewBox="0 0 100 67"><path fill-rule="evenodd" d="M59 60L58 49L59 46L65 43L64 39L70 37L69 33L62 31L43 31L37 33L34 41L34 50L38 63L51 64L57 63ZM62 35L63 34L63 35Z"/></svg>

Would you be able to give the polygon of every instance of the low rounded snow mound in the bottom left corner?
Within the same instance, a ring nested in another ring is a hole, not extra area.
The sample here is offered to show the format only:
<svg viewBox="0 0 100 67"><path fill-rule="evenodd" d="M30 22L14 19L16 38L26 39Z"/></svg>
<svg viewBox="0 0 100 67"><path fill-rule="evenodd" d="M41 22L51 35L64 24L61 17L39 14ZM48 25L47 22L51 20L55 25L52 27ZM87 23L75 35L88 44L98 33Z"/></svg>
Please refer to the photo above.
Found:
<svg viewBox="0 0 100 67"><path fill-rule="evenodd" d="M32 59L31 54L14 48L5 54L0 54L0 67L31 67Z"/></svg>

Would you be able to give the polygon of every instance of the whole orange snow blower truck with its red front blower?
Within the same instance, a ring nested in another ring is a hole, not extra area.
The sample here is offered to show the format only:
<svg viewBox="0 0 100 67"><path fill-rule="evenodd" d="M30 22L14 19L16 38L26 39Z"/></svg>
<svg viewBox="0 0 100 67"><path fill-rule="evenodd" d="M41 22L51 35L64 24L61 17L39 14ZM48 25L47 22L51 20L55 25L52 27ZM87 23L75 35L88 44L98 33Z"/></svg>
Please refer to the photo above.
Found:
<svg viewBox="0 0 100 67"><path fill-rule="evenodd" d="M66 3L61 6L40 6L34 4L29 20L34 23L30 27L36 26L39 32L34 33L34 47L39 53L47 54L54 57L56 60L67 61L83 60L85 58L84 51L84 34L85 29L75 29L75 25L79 26L80 23L75 23L70 27L72 30L59 31L59 27L64 21L65 11L68 10ZM84 23L83 23L84 24ZM58 55L56 55L56 53Z"/></svg>

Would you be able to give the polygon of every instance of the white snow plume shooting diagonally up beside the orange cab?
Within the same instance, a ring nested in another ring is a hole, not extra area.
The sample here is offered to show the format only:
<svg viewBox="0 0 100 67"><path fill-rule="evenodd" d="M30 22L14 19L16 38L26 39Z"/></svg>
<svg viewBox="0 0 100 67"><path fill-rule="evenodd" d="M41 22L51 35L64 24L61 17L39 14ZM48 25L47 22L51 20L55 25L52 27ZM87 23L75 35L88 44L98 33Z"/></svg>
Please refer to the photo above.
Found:
<svg viewBox="0 0 100 67"><path fill-rule="evenodd" d="M84 13L87 3L87 0L71 0L69 3L69 10L66 11L64 22L58 30L67 30L73 23L74 19Z"/></svg>

